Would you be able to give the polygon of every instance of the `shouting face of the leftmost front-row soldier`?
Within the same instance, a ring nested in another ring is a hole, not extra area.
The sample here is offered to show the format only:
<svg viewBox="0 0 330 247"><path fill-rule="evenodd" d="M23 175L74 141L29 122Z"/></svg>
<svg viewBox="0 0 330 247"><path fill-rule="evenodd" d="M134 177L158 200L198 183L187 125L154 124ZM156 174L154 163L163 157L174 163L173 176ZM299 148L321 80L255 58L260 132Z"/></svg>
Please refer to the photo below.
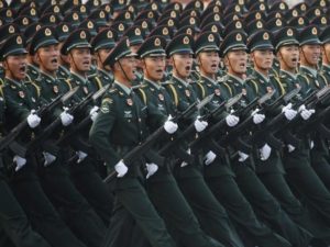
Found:
<svg viewBox="0 0 330 247"><path fill-rule="evenodd" d="M3 61L6 76L14 80L23 80L26 75L26 55L8 56Z"/></svg>

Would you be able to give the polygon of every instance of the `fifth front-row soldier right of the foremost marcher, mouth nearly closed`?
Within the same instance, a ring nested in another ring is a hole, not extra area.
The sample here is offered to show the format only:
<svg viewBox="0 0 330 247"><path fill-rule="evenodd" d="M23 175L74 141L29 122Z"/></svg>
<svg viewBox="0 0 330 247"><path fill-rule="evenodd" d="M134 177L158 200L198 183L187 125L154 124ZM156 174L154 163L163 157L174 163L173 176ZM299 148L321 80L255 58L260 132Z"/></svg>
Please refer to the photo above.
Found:
<svg viewBox="0 0 330 247"><path fill-rule="evenodd" d="M274 56L272 42L272 34L264 30L255 33L249 40L248 47L252 57L251 60L254 64L253 77L246 81L253 89L253 93L249 96L250 99L262 97L265 93L276 90L273 99L271 99L272 102L286 92L279 79L270 76ZM267 114L275 116L279 112L280 109L276 109L274 112ZM316 238L327 237L327 232L329 236L329 228L327 229L326 225L316 222L294 195L284 177L285 170L279 154L280 150L272 148L271 146L272 145L264 144L261 149L255 150L255 171L258 178L295 223L308 229Z"/></svg>

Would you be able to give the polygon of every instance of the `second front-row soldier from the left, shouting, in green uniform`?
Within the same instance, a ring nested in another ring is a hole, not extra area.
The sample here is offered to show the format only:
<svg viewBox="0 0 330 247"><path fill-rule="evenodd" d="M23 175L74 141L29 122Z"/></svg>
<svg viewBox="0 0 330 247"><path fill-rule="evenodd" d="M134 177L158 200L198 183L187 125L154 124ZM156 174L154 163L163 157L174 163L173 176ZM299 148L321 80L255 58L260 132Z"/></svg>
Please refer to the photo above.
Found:
<svg viewBox="0 0 330 247"><path fill-rule="evenodd" d="M61 93L67 92L70 87L65 80L56 78L59 57L57 45L55 31L51 26L41 27L32 37L30 45L30 54L40 64L40 77L35 82L45 104L51 103ZM41 181L54 205L61 209L72 231L86 245L99 246L105 226L70 180L65 145L59 143L56 145L63 127L69 126L74 116L67 113L67 110L56 109L44 117L42 126L46 128L57 117L61 119L63 126L55 127L53 134L40 144L44 156L43 164L40 166Z"/></svg>

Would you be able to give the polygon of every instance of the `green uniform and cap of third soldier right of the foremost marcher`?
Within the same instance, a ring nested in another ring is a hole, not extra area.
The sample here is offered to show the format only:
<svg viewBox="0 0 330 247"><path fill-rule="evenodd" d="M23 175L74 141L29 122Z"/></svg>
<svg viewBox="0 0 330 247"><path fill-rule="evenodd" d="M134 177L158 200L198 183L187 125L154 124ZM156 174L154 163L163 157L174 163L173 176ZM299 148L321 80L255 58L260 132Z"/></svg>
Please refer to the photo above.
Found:
<svg viewBox="0 0 330 247"><path fill-rule="evenodd" d="M213 38L208 37L206 33L199 38L198 43L199 45L196 45L197 50L202 52L204 48L205 50L219 50ZM202 75L200 75L200 80L194 85L194 88L199 99L215 93L212 101L208 105L210 111L218 108L222 101L230 99L232 96L232 89L227 82L218 82ZM223 114L221 117L223 117ZM224 206L230 218L238 226L238 229L249 233L249 242L260 245L285 246L286 240L272 233L268 227L256 218L251 205L235 183L234 172L228 155L217 154L213 162L204 166L204 175L209 188Z"/></svg>

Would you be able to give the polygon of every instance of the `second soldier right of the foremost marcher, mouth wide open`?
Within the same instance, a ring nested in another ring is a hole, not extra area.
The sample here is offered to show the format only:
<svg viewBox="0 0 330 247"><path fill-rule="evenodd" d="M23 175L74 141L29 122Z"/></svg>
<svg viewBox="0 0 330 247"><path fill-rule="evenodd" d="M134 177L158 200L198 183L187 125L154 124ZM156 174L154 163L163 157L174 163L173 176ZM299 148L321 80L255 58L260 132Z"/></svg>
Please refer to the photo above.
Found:
<svg viewBox="0 0 330 247"><path fill-rule="evenodd" d="M193 37L182 34L174 37L166 47L169 63L173 66L173 77L164 86L179 112L185 111L197 100L194 88L188 80L193 67ZM207 122L198 120L197 114L195 113L189 121L184 123L187 126L194 123L196 133L202 132L207 126ZM185 126L182 128L185 130ZM187 149L186 143L182 145L183 149ZM177 156L176 158L179 158L179 155ZM241 246L241 240L229 224L224 209L219 204L202 178L199 161L188 164L183 162L183 158L179 160L182 162L175 162L174 175L202 229L228 246Z"/></svg>

